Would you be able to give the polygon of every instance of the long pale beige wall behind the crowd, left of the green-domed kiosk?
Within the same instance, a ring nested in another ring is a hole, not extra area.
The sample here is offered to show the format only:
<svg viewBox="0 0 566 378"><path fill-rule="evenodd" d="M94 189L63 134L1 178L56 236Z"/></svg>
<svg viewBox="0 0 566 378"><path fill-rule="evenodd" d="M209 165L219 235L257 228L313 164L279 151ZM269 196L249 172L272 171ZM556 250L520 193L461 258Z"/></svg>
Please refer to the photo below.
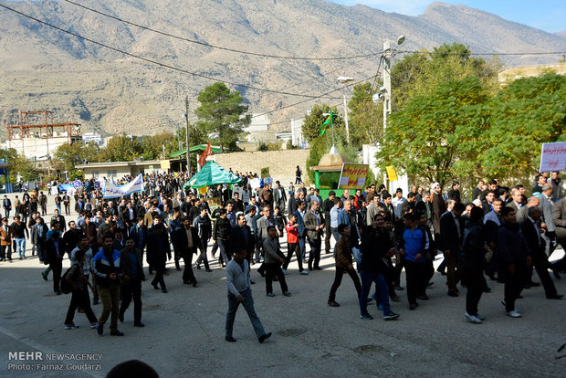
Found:
<svg viewBox="0 0 566 378"><path fill-rule="evenodd" d="M259 174L262 168L269 167L269 173L274 180L279 180L282 185L288 185L290 181L295 182L295 171L297 165L303 172L303 180L307 172L306 163L310 150L283 150L266 152L230 152L212 155L216 163L225 169L234 172L252 172Z"/></svg>

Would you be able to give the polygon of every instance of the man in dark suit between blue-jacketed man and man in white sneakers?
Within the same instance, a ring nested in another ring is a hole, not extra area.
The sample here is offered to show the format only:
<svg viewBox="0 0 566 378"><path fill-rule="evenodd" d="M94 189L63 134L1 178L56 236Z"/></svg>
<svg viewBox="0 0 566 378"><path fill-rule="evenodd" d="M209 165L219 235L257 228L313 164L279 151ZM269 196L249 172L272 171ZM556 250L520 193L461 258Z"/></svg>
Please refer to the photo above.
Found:
<svg viewBox="0 0 566 378"><path fill-rule="evenodd" d="M445 256L446 285L448 285L448 295L450 297L458 296L460 244L464 234L464 226L460 221L460 215L462 215L464 210L466 210L465 205L456 204L451 211L445 212L440 218L440 246Z"/></svg>

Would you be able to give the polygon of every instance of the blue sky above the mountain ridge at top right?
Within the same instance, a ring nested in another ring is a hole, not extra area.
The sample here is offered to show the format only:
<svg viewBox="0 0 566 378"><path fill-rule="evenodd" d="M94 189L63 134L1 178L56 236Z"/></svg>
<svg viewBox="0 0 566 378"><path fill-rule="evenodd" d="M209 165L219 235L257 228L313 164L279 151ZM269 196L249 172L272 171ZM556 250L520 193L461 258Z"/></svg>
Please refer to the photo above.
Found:
<svg viewBox="0 0 566 378"><path fill-rule="evenodd" d="M431 0L329 0L343 5L363 4L385 12L407 16L425 13ZM549 33L566 30L566 0L444 0L442 3L466 5L493 13L509 21L536 27Z"/></svg>

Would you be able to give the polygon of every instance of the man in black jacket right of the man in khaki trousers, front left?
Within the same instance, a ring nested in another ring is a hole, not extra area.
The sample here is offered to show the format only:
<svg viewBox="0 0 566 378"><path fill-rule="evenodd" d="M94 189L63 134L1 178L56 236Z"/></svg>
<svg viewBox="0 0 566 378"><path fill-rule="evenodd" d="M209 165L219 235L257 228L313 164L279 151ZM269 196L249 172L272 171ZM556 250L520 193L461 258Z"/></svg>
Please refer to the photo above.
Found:
<svg viewBox="0 0 566 378"><path fill-rule="evenodd" d="M124 313L130 306L133 298L133 326L143 327L142 323L142 281L143 251L135 247L132 236L126 238L126 247L120 251L120 264L123 270L121 283L121 307L118 319L124 321Z"/></svg>

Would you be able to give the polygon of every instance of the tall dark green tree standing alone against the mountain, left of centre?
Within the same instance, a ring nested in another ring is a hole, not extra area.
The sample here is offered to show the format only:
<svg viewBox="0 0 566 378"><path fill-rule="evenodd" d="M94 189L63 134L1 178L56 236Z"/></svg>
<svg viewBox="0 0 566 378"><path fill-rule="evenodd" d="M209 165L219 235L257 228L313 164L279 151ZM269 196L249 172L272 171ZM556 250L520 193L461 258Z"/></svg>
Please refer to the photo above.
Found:
<svg viewBox="0 0 566 378"><path fill-rule="evenodd" d="M221 151L224 152L225 147L235 147L239 134L251 121L240 92L216 82L199 93L197 100L201 103L194 111L199 120L197 128L215 135Z"/></svg>

